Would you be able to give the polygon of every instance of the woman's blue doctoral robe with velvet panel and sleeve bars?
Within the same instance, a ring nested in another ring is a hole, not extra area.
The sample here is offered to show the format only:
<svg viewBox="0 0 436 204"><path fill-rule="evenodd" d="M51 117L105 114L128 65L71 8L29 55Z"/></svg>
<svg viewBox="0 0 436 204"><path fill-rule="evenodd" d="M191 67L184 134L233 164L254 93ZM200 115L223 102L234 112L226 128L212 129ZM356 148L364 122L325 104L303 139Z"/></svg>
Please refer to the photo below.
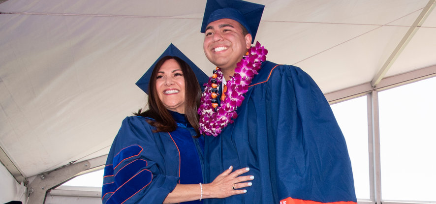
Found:
<svg viewBox="0 0 436 204"><path fill-rule="evenodd" d="M104 168L103 204L161 204L177 183L203 183L204 138L192 138L185 115L170 113L178 124L173 132L152 132L151 118L123 120Z"/></svg>

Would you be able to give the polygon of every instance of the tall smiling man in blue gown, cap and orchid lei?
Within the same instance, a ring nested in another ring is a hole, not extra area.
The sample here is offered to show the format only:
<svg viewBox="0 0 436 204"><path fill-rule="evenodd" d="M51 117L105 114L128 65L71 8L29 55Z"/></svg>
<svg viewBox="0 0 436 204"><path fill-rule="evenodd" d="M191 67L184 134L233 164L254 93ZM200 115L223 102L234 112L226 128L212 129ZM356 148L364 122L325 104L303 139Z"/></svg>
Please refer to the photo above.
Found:
<svg viewBox="0 0 436 204"><path fill-rule="evenodd" d="M246 194L206 203L354 204L345 140L321 90L300 68L266 61L260 44L246 56L263 8L241 0L206 4L204 52L218 68L198 111L206 134L204 179L212 181L231 165L249 167L254 175ZM245 61L256 56L257 67ZM237 80L249 73L244 67L258 73L244 81L247 86Z"/></svg>

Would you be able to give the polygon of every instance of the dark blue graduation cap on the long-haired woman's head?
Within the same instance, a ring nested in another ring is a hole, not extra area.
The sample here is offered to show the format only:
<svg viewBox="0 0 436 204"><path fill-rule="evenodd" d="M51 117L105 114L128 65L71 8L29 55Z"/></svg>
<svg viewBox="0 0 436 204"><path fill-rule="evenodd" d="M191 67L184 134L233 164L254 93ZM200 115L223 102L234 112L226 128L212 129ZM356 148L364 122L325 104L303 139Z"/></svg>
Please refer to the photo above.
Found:
<svg viewBox="0 0 436 204"><path fill-rule="evenodd" d="M156 59L155 63L145 72L144 75L136 82L136 86L141 88L145 93L148 93L148 87L150 82L150 77L152 76L153 69L155 68L157 62L165 57L165 56L175 56L184 60L194 71L195 76L197 77L198 83L200 84L201 90L203 91L203 84L209 81L209 77L200 69L197 65L194 64L189 58L187 58L176 46L172 43L168 46L168 48L160 55L159 58Z"/></svg>

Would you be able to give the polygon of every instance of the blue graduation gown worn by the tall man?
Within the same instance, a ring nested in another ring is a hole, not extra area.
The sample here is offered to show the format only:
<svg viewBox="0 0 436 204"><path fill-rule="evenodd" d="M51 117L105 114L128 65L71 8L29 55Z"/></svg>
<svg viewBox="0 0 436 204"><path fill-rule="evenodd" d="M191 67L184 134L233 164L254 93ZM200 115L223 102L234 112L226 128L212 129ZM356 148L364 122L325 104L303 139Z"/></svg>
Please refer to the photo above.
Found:
<svg viewBox="0 0 436 204"><path fill-rule="evenodd" d="M207 204L355 203L345 139L323 93L298 67L265 61L234 123L205 138L205 181L249 167L247 193Z"/></svg>

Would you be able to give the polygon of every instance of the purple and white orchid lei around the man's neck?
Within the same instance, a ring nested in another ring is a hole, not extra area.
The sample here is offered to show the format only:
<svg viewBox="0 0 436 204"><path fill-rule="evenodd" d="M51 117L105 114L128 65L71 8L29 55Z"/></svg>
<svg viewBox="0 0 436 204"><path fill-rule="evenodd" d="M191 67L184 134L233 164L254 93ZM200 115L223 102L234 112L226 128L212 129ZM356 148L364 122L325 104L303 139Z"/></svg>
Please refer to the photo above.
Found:
<svg viewBox="0 0 436 204"><path fill-rule="evenodd" d="M244 94L247 93L249 84L254 75L258 74L257 71L263 61L266 60L268 51L256 42L255 46L250 47L248 56L236 64L235 74L229 81L227 81L227 91L225 91L225 99L221 101L221 106L216 109L212 107L212 77L209 82L205 83L205 91L203 92L200 100L200 107L197 113L200 115L200 133L206 135L213 135L215 137L221 133L221 129L226 127L229 123L233 123L232 119L236 119L238 114L236 109L241 106L244 101ZM216 78L217 84L220 85L222 81L222 72L218 68L218 77Z"/></svg>

